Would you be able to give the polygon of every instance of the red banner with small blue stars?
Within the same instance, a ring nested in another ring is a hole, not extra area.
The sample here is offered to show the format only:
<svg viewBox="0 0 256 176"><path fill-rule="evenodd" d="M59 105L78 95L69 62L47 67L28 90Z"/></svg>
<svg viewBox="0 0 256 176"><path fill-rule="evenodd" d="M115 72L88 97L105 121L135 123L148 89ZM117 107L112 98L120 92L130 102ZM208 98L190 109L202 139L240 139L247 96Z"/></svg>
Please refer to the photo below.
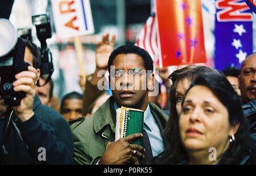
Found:
<svg viewBox="0 0 256 176"><path fill-rule="evenodd" d="M201 1L155 0L160 67L205 63Z"/></svg>

